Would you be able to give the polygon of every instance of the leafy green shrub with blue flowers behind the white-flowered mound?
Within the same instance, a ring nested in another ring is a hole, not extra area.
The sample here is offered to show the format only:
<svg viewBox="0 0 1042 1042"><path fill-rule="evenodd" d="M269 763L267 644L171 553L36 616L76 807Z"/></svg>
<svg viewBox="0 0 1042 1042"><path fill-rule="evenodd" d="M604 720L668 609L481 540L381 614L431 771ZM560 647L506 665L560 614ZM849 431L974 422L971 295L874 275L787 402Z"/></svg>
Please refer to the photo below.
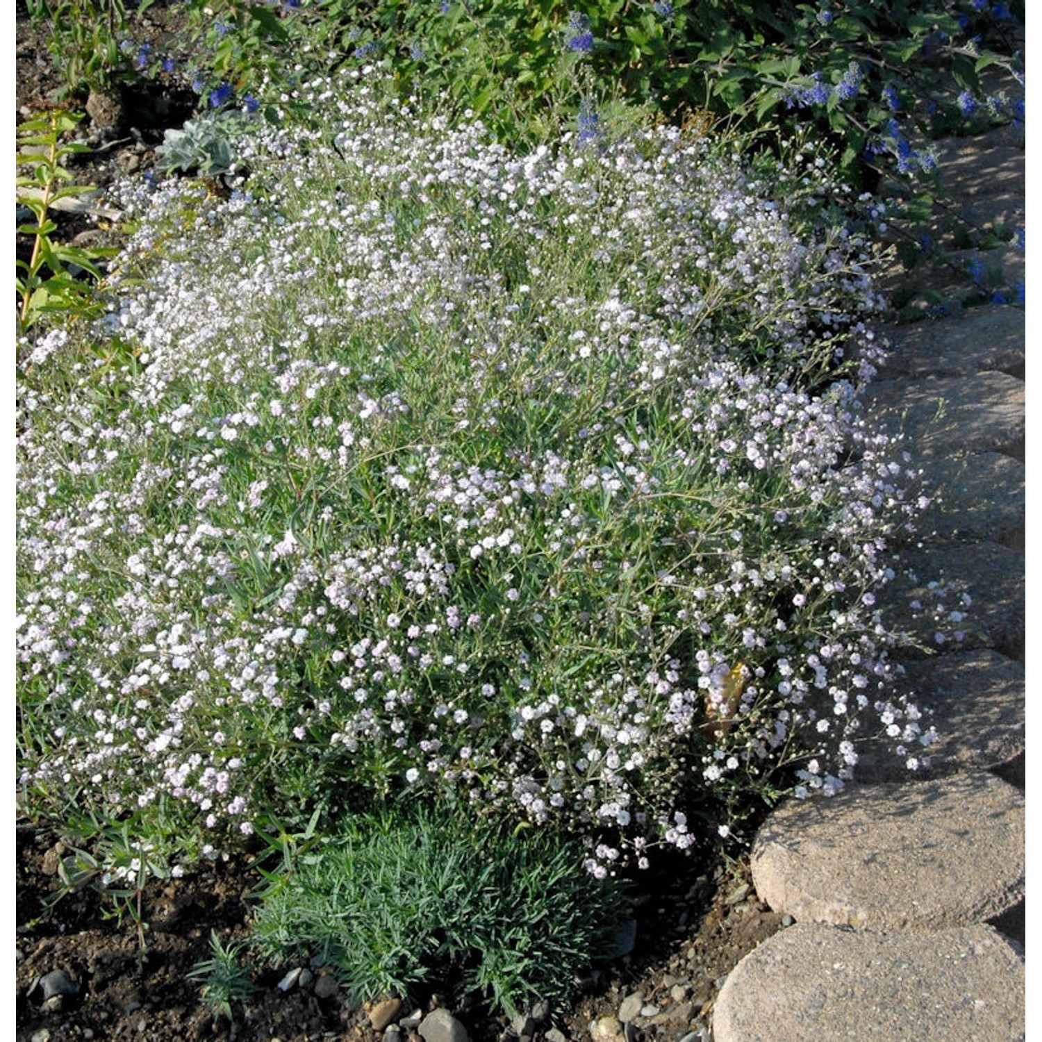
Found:
<svg viewBox="0 0 1042 1042"><path fill-rule="evenodd" d="M950 0L574 6L303 0L279 18L249 0L193 0L190 10L214 76L237 90L267 84L278 95L293 86L294 67L380 65L402 94L450 99L510 142L531 140L555 103L567 99L575 113L591 93L649 104L673 122L701 114L737 123L769 143L810 120L842 145L848 177L866 159L920 172L918 156L909 162L913 130L936 134L967 122L942 84L976 96L985 69L1021 68L1011 56L1019 11ZM974 118L1019 117L995 95L979 99Z"/></svg>

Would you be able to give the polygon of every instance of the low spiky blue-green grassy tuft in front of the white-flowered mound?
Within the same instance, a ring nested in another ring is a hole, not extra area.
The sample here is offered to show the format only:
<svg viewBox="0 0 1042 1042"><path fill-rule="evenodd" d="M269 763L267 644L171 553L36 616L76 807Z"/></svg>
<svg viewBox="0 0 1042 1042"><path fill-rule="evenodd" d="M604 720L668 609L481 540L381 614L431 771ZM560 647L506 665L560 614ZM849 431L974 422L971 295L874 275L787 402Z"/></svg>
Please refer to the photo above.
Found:
<svg viewBox="0 0 1042 1042"><path fill-rule="evenodd" d="M595 879L580 845L544 832L451 809L346 824L270 877L253 940L275 964L332 966L352 1002L438 982L508 1014L563 1003L629 915L622 884Z"/></svg>

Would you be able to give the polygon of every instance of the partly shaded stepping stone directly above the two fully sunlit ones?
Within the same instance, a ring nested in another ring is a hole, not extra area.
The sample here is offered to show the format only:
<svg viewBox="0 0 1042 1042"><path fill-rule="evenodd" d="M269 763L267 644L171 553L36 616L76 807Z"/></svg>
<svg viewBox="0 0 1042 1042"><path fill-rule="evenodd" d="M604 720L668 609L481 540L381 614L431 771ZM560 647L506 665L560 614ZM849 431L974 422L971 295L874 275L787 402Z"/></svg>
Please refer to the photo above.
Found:
<svg viewBox="0 0 1042 1042"><path fill-rule="evenodd" d="M931 713L940 740L931 746L928 776L990 770L1019 764L1023 787L1026 713L1024 667L997 651L978 648L908 663L897 691ZM859 749L859 783L913 780L903 760L883 742ZM1004 773L1010 782L1015 768Z"/></svg>

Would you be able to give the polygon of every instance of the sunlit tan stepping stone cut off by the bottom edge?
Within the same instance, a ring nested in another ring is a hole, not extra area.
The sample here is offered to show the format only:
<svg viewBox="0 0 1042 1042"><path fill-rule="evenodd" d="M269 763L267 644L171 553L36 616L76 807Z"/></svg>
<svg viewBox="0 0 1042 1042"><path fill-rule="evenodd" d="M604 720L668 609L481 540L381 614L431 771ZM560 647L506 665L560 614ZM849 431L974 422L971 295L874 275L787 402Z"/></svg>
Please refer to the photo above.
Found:
<svg viewBox="0 0 1042 1042"><path fill-rule="evenodd" d="M875 934L797 923L728 975L715 1042L1018 1042L1024 963L983 924Z"/></svg>

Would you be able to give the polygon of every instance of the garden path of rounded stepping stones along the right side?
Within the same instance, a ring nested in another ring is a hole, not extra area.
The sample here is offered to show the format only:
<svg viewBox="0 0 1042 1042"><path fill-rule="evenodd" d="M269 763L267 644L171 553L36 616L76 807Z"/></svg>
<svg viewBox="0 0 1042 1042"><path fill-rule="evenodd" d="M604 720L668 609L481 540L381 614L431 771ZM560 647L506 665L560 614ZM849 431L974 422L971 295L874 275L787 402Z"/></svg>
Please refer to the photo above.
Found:
<svg viewBox="0 0 1042 1042"><path fill-rule="evenodd" d="M940 149L949 213L998 240L1024 226L1019 137L1002 128ZM927 773L869 748L858 785L785 803L761 828L753 884L791 925L729 974L715 1042L1024 1038L1025 322L1003 303L964 307L958 292L960 270L977 273L978 290L987 272L990 286L1007 279L1009 299L1024 278L1022 230L1019 243L889 274L888 295L912 312L929 302L932 317L890 330L866 408L903 430L939 493L933 534L901 551L919 579L895 584L894 603L931 595L931 579L962 584L966 638L904 663L941 734ZM908 625L932 642L922 617Z"/></svg>

